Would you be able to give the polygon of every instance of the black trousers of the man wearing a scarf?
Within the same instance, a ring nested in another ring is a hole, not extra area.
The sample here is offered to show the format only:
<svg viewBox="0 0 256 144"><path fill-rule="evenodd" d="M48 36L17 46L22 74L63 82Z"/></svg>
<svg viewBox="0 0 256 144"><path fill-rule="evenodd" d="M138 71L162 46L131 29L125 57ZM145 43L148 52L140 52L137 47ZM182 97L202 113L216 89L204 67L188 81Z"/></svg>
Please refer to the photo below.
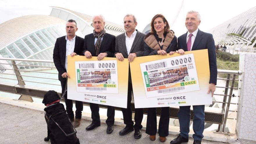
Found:
<svg viewBox="0 0 256 144"><path fill-rule="evenodd" d="M100 118L99 118L99 104L90 103L90 109L92 111L92 119L94 124L100 125ZM114 106L108 106L107 110L107 119L106 124L107 125L114 125L115 121L115 107Z"/></svg>

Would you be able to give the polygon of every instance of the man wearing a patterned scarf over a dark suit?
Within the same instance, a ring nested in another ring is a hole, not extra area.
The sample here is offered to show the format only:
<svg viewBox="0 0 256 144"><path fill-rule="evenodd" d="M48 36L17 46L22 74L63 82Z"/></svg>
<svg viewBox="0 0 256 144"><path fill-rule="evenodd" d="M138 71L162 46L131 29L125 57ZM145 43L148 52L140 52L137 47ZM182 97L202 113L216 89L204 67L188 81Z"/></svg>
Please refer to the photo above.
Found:
<svg viewBox="0 0 256 144"><path fill-rule="evenodd" d="M93 17L93 33L88 34L84 37L84 51L83 54L86 58L92 58L92 56L97 56L97 59L100 61L104 57L113 57L115 52L115 36L109 33L106 33L105 29L105 20L102 15L97 15ZM92 111L92 123L86 127L86 130L92 130L95 127L100 126L99 118L99 104L90 103L90 109ZM115 120L115 107L108 106L107 110L107 134L113 132L113 125Z"/></svg>

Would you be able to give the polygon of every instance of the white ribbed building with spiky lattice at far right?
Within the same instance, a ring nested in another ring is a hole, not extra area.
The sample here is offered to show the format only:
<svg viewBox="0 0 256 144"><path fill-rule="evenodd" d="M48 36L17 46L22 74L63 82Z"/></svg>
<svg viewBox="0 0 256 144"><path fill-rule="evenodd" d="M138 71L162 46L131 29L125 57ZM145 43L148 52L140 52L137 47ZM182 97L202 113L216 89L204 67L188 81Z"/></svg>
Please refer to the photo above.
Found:
<svg viewBox="0 0 256 144"><path fill-rule="evenodd" d="M216 44L230 49L252 49L256 44L256 7L208 31Z"/></svg>

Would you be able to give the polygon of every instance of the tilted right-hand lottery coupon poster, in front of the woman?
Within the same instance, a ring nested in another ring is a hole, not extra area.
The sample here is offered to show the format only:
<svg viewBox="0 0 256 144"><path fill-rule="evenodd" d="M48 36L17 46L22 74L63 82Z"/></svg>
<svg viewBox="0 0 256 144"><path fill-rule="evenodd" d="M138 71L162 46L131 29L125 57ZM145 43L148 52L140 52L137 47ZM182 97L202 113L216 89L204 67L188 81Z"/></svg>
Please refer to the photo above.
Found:
<svg viewBox="0 0 256 144"><path fill-rule="evenodd" d="M207 49L137 57L130 68L135 108L212 104Z"/></svg>

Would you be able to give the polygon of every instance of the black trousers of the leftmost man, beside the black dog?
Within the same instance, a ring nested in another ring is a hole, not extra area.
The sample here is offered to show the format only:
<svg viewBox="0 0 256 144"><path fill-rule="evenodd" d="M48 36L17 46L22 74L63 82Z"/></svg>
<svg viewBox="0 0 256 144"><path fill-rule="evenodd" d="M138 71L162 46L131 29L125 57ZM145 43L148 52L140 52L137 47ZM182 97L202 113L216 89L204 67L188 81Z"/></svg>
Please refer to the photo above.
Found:
<svg viewBox="0 0 256 144"><path fill-rule="evenodd" d="M65 91L66 82L67 82L66 78L61 79L62 94ZM73 108L73 101L71 99L67 99L67 92L64 95L64 97L65 97L67 115L70 119L73 119L74 118L74 111L72 109ZM83 102L76 101L75 104L76 104L76 117L75 118L81 119L82 118L82 111L83 111Z"/></svg>

